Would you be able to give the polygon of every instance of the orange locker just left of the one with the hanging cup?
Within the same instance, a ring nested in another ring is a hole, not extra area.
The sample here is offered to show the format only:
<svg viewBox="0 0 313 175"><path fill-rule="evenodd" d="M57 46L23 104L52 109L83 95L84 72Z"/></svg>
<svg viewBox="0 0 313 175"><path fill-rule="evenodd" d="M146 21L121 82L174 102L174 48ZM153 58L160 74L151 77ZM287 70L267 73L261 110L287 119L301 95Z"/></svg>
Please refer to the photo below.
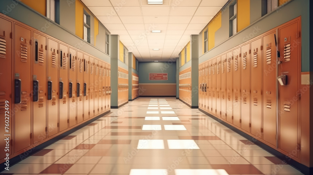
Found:
<svg viewBox="0 0 313 175"><path fill-rule="evenodd" d="M263 36L263 140L276 146L276 46L273 31Z"/></svg>

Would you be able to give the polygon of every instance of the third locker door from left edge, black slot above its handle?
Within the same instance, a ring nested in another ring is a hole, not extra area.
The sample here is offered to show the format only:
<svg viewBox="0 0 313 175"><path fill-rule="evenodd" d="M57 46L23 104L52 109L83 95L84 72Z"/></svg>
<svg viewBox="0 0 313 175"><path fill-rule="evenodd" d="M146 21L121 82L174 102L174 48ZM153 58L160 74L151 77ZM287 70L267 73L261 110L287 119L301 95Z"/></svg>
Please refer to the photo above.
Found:
<svg viewBox="0 0 313 175"><path fill-rule="evenodd" d="M33 144L47 138L47 37L33 32Z"/></svg>

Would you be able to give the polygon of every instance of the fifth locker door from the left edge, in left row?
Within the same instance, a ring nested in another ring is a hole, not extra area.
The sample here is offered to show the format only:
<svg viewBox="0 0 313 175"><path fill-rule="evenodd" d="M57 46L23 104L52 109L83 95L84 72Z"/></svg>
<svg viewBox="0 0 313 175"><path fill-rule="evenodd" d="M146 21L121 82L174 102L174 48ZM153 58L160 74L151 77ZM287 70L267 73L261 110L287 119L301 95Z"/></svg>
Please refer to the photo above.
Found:
<svg viewBox="0 0 313 175"><path fill-rule="evenodd" d="M59 131L69 128L69 47L60 43L59 54Z"/></svg>

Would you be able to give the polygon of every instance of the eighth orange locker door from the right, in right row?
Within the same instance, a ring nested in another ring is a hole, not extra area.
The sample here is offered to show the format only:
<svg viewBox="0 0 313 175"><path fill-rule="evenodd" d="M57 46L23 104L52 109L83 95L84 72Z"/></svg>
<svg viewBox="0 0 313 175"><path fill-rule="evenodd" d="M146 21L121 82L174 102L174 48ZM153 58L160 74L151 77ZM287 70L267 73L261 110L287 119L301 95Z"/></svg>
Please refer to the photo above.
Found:
<svg viewBox="0 0 313 175"><path fill-rule="evenodd" d="M216 115L221 117L221 57L216 58Z"/></svg>

